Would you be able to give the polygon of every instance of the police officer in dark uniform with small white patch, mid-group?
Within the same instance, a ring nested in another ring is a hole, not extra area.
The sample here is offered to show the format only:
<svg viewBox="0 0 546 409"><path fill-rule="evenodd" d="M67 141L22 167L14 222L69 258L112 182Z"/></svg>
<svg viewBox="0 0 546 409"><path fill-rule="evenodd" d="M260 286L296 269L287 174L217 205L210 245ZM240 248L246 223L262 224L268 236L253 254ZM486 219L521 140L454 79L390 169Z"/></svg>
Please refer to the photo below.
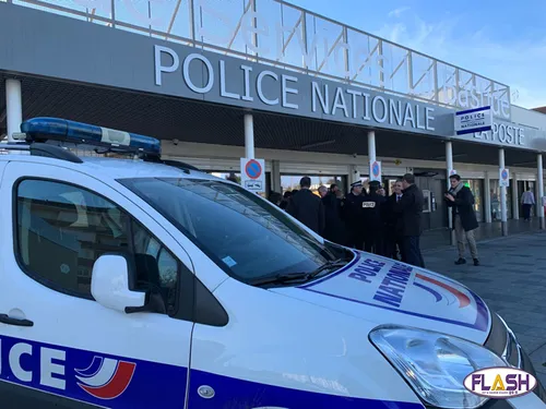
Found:
<svg viewBox="0 0 546 409"><path fill-rule="evenodd" d="M366 225L365 250L368 253L384 255L384 231L381 207L385 201L381 183L371 181L370 191L364 202L364 220Z"/></svg>

